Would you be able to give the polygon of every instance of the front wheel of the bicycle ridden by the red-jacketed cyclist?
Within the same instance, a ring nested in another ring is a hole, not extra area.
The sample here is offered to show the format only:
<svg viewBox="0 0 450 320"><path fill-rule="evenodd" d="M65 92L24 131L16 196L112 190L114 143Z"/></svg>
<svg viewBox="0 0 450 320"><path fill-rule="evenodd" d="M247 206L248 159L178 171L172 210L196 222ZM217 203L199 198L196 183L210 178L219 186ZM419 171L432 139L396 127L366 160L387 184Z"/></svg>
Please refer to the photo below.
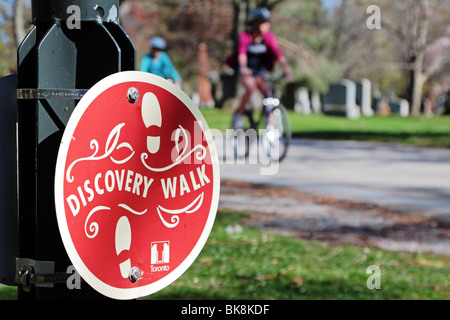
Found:
<svg viewBox="0 0 450 320"><path fill-rule="evenodd" d="M275 107L268 115L262 135L262 145L270 160L282 161L288 151L292 132L284 106Z"/></svg>

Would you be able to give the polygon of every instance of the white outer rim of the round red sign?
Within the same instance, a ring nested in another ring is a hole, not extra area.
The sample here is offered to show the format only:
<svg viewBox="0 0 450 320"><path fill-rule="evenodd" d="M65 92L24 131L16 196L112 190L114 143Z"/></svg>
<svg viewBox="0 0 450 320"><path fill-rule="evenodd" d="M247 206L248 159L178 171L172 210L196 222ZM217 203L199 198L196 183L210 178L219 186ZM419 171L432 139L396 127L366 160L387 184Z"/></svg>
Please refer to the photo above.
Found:
<svg viewBox="0 0 450 320"><path fill-rule="evenodd" d="M64 177L65 177L64 169L73 133L75 132L78 122L80 121L84 112L89 108L91 103L99 96L99 94L115 85L130 81L150 83L169 91L191 111L196 120L202 126L203 133L208 143L208 149L211 155L211 164L213 167L213 197L205 227L202 231L199 240L197 241L196 245L187 256L187 258L175 270L171 271L167 276L161 278L160 280L154 283L142 287L123 289L113 287L98 279L86 267L86 265L78 255L78 252L70 236L69 227L67 225L66 220L66 212L64 205ZM58 158L56 162L56 172L55 172L56 216L58 220L59 231L64 243L64 247L75 269L91 287L93 287L101 294L109 298L118 300L136 299L151 295L167 287L177 278L179 278L195 261L197 256L200 254L203 246L205 245L206 241L208 240L208 236L214 225L214 220L218 209L219 194L220 194L220 168L214 138L203 115L198 110L198 108L180 88L178 88L171 82L156 75L141 71L124 71L112 74L100 80L97 84L95 84L80 100L75 110L73 111L72 115L70 116L70 119L67 123L66 129L64 131L61 140L61 145L59 148Z"/></svg>

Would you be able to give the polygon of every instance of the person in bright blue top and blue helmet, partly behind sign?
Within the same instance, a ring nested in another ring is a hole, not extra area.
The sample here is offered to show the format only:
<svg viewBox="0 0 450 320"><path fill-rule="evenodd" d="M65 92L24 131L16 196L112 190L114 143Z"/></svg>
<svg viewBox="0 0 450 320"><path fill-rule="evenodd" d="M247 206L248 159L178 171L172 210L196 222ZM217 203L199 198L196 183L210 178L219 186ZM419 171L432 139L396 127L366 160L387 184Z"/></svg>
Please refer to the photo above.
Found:
<svg viewBox="0 0 450 320"><path fill-rule="evenodd" d="M150 52L142 58L139 70L170 79L181 87L181 76L165 52L166 49L166 40L161 37L152 37L150 39Z"/></svg>

